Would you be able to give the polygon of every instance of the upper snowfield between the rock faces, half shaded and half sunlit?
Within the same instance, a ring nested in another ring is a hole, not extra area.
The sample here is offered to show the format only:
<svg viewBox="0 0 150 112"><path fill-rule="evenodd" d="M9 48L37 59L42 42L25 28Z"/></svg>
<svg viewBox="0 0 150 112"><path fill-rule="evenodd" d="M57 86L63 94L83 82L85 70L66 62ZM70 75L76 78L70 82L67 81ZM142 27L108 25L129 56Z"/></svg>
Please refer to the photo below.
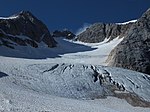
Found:
<svg viewBox="0 0 150 112"><path fill-rule="evenodd" d="M83 63L106 65L105 61L111 50L117 46L123 38L115 38L107 42L87 44L74 42L63 38L55 38L58 45L55 48L47 48L43 43L38 44L39 48L30 46L16 46L10 49L0 47L0 55L7 57L29 58L29 59L48 59L51 62L60 63Z"/></svg>

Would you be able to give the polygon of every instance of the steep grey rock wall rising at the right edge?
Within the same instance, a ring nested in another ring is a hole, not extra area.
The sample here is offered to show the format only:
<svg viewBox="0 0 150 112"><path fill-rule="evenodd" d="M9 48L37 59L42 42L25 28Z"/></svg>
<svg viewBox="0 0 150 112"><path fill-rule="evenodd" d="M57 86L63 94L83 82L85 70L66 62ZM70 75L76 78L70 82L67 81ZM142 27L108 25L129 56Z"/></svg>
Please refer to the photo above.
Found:
<svg viewBox="0 0 150 112"><path fill-rule="evenodd" d="M107 60L109 65L150 75L150 9L134 23Z"/></svg>

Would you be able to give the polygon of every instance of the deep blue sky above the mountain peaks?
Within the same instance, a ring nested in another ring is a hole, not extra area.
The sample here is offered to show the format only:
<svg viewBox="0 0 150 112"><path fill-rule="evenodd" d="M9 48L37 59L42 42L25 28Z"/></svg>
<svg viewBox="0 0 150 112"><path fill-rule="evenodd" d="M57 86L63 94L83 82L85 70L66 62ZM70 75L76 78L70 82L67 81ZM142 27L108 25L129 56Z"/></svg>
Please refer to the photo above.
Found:
<svg viewBox="0 0 150 112"><path fill-rule="evenodd" d="M150 0L1 0L0 16L31 11L50 31L76 32L84 24L123 22L139 18Z"/></svg>

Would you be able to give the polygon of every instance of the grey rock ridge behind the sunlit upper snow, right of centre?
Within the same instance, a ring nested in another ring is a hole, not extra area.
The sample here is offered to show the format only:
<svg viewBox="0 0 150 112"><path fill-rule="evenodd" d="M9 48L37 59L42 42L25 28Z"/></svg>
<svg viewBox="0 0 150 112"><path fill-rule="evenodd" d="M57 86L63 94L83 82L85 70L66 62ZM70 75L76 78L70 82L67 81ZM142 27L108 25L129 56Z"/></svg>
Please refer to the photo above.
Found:
<svg viewBox="0 0 150 112"><path fill-rule="evenodd" d="M76 40L86 42L86 43L98 43L105 40L105 38L112 40L118 36L123 37L128 29L133 23L128 24L105 24L105 23L95 23L86 31L77 35Z"/></svg>

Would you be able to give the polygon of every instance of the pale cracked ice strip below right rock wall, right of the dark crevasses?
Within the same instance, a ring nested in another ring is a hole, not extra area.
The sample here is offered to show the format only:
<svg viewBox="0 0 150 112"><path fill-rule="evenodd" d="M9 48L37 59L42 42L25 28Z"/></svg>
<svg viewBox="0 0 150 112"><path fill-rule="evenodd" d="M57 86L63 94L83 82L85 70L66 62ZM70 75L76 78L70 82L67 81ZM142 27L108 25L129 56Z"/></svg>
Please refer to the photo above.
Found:
<svg viewBox="0 0 150 112"><path fill-rule="evenodd" d="M106 68L111 73L113 80L119 84L124 85L126 90L132 93L136 93L144 100L150 102L150 77L134 72L131 70L120 69L120 68Z"/></svg>

